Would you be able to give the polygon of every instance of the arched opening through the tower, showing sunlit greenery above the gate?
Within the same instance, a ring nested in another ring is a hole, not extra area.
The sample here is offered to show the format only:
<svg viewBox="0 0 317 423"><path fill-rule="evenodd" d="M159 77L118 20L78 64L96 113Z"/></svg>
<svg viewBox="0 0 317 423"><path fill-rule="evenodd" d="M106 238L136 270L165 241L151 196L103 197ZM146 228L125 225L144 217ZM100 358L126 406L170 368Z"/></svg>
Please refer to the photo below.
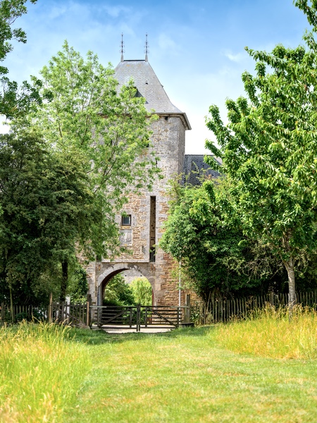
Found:
<svg viewBox="0 0 317 423"><path fill-rule="evenodd" d="M102 304L116 306L151 306L154 293L149 280L134 269L121 269L103 283Z"/></svg>

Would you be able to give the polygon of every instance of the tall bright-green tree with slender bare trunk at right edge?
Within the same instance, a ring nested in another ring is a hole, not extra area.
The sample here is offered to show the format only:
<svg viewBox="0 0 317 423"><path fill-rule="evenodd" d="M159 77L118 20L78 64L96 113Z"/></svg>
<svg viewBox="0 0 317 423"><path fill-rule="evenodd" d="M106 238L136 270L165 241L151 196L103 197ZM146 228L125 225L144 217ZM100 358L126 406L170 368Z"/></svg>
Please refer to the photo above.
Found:
<svg viewBox="0 0 317 423"><path fill-rule="evenodd" d="M313 4L307 13L315 25ZM242 75L247 98L227 100L228 126L217 106L206 123L220 149L211 141L206 147L223 159L244 233L270 246L284 264L290 304L297 260L316 249L317 44L313 33L304 40L306 48L278 45L271 54L247 49L256 61L256 75Z"/></svg>

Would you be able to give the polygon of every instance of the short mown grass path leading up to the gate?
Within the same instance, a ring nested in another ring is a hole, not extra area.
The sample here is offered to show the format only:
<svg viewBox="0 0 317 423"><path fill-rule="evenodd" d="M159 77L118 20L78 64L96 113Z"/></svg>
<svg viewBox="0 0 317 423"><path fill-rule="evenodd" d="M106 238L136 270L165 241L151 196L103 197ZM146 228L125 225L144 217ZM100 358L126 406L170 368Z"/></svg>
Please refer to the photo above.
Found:
<svg viewBox="0 0 317 423"><path fill-rule="evenodd" d="M314 422L316 362L237 355L218 329L124 336L94 348L70 422Z"/></svg>

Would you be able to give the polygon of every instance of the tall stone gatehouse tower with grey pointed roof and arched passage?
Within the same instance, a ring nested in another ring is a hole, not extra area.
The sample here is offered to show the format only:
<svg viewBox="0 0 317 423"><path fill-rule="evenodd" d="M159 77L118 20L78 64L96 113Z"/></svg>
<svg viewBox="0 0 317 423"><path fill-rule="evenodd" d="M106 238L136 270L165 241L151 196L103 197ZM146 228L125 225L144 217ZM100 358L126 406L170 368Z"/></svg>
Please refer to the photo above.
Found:
<svg viewBox="0 0 317 423"><path fill-rule="evenodd" d="M145 276L153 289L154 305L178 305L178 283L170 271L173 259L156 247L162 234L162 223L167 218L168 198L166 186L173 174L181 173L185 154L185 131L190 130L185 113L168 98L151 65L145 60L123 60L115 69L119 89L132 78L137 95L146 99L146 108L155 110L159 120L151 124L152 145L160 158L163 179L156 180L152 191L142 190L142 195L130 195L124 216L117 216L120 241L133 251L132 255L92 262L87 269L89 293L93 304L101 305L104 288L116 274L129 270ZM182 300L183 302L183 300Z"/></svg>

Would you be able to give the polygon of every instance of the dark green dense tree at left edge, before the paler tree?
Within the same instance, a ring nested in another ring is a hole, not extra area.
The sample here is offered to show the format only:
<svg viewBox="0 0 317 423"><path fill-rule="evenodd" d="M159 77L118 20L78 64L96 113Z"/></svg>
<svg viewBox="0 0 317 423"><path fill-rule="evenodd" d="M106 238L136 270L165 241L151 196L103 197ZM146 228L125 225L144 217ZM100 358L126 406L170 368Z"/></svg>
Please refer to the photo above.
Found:
<svg viewBox="0 0 317 423"><path fill-rule="evenodd" d="M75 154L49 152L34 131L0 136L0 278L25 300L52 262L74 257L95 219L82 167Z"/></svg>

